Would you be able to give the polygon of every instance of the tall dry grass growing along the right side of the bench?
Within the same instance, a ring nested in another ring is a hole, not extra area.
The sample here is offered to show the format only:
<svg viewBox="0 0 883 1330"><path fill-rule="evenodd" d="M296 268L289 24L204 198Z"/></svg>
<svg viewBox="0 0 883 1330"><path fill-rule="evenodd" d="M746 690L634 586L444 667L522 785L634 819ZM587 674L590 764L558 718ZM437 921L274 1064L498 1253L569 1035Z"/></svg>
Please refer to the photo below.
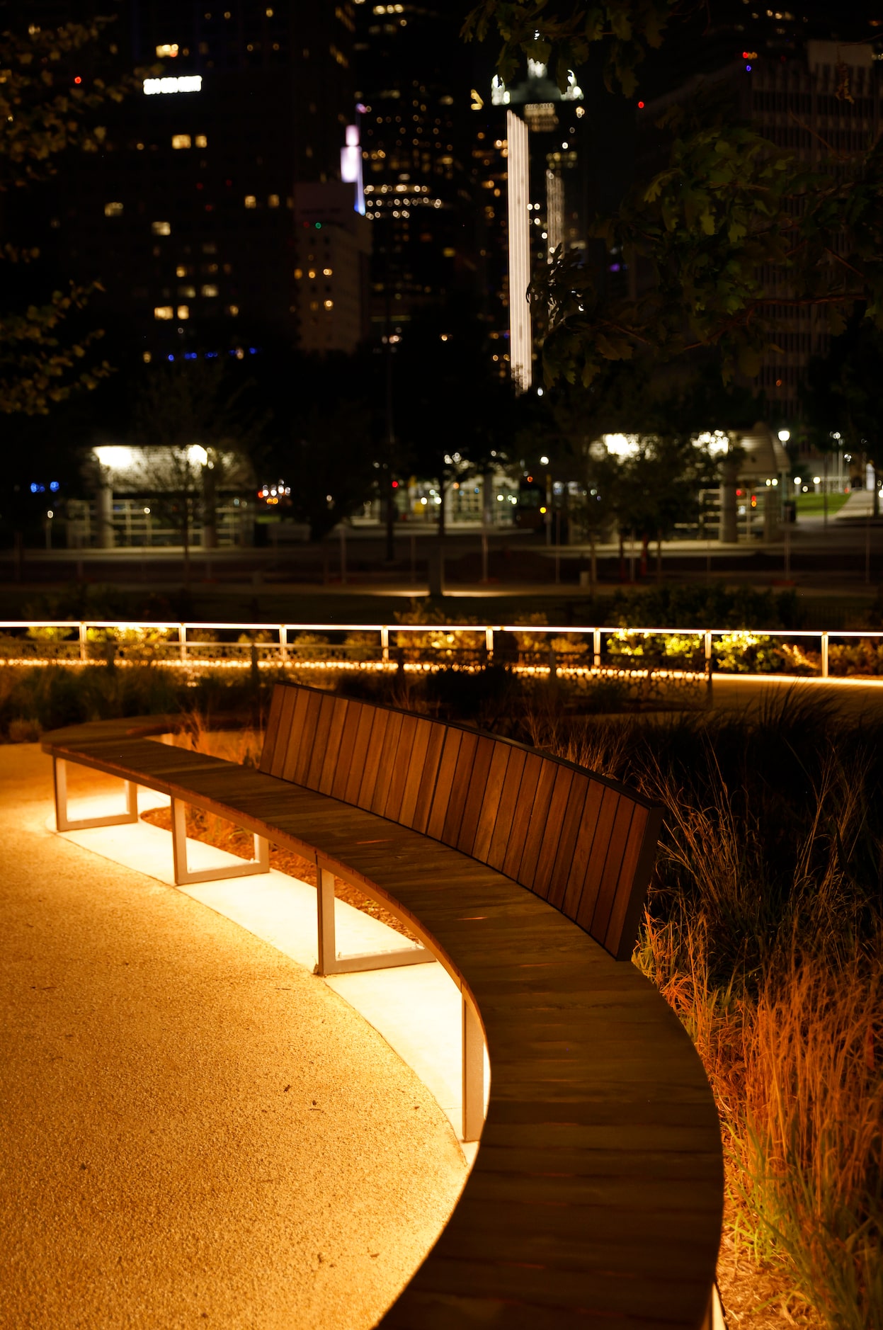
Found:
<svg viewBox="0 0 883 1330"><path fill-rule="evenodd" d="M883 1330L875 735L787 708L743 729L739 757L733 722L525 721L666 805L634 959L711 1081L737 1238L785 1260L831 1330Z"/></svg>

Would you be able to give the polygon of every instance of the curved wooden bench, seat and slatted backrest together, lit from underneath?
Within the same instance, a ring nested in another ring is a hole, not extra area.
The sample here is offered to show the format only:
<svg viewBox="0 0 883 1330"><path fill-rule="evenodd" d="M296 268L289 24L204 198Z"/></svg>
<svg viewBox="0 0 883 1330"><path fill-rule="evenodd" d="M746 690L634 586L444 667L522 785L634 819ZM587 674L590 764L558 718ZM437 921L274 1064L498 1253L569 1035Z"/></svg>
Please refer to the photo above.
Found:
<svg viewBox="0 0 883 1330"><path fill-rule="evenodd" d="M144 737L166 728L78 726L43 746L355 882L459 984L464 1087L475 1029L487 1040L475 1166L382 1325L710 1325L717 1112L674 1013L614 959L630 954L658 810L519 745L313 689L277 689L259 771Z"/></svg>

